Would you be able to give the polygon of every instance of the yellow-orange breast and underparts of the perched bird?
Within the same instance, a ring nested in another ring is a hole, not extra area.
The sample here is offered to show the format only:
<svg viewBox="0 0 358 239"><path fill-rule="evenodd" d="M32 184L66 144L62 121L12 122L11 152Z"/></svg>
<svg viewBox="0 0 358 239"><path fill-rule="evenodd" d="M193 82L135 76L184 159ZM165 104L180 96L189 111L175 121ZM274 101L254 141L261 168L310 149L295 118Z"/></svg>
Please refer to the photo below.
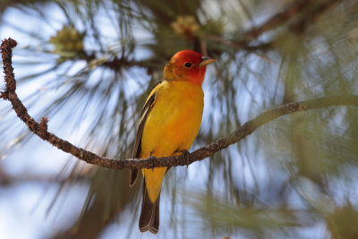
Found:
<svg viewBox="0 0 358 239"><path fill-rule="evenodd" d="M163 81L146 120L141 139L141 158L167 157L188 150L201 124L204 93L189 81ZM155 201L166 167L143 169L149 198Z"/></svg>

